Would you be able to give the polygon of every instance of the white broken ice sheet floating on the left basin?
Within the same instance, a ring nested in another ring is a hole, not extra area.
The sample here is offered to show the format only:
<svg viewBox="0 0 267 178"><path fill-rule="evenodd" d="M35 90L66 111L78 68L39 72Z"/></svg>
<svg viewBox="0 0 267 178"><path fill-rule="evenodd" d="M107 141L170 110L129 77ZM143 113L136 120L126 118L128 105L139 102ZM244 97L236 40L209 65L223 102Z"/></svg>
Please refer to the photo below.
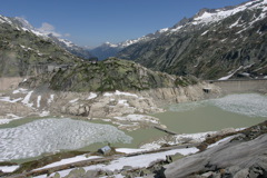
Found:
<svg viewBox="0 0 267 178"><path fill-rule="evenodd" d="M125 142L131 137L113 126L65 119L41 119L0 129L0 161L78 149L95 142Z"/></svg>

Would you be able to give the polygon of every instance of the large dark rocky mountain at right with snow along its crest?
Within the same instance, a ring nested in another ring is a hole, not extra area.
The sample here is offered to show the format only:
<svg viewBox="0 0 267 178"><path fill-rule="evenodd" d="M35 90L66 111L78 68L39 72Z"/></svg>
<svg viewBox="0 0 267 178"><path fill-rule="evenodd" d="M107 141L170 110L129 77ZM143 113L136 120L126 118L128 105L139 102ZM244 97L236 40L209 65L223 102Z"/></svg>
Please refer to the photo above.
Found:
<svg viewBox="0 0 267 178"><path fill-rule="evenodd" d="M267 76L267 0L202 9L118 57L171 75L202 79Z"/></svg>

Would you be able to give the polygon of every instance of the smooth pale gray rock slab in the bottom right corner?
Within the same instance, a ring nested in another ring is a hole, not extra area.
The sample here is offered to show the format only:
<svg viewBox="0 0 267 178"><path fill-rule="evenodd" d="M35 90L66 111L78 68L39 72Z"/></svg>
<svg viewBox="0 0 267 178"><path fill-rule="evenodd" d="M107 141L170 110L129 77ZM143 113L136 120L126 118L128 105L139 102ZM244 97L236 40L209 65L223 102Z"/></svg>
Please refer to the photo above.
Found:
<svg viewBox="0 0 267 178"><path fill-rule="evenodd" d="M267 170L267 135L250 141L228 141L166 166L168 178L187 177L199 171L218 171L235 177L261 175ZM256 169L256 170L255 170Z"/></svg>

